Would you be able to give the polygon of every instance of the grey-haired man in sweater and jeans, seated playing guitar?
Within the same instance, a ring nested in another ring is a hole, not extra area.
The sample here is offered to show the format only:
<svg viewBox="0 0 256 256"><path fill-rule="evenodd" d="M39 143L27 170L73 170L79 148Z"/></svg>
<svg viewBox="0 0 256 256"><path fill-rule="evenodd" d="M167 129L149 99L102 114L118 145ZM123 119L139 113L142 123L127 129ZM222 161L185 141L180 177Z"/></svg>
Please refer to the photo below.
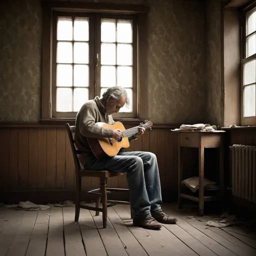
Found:
<svg viewBox="0 0 256 256"><path fill-rule="evenodd" d="M105 160L97 159L91 152L86 137L108 137L120 139L119 130L105 129L95 125L96 122L114 124L112 113L118 112L124 104L129 105L129 98L124 88L108 88L102 98L95 97L87 101L76 115L75 144L85 151L79 156L80 163L86 169L106 169L116 172L127 172L130 192L130 204L134 211L133 224L149 229L158 229L161 223L171 224L177 221L161 210L161 189L155 154L151 152L119 152ZM129 141L141 136L145 129L128 137Z"/></svg>

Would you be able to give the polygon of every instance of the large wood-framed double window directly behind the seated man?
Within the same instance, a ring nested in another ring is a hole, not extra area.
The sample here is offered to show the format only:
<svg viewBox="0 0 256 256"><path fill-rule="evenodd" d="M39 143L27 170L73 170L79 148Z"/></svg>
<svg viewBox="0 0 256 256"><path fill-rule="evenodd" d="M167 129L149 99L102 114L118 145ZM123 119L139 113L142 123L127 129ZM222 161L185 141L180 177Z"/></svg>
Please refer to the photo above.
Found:
<svg viewBox="0 0 256 256"><path fill-rule="evenodd" d="M75 118L86 100L114 85L130 97L115 119L147 117L145 12L134 5L43 3L42 120Z"/></svg>

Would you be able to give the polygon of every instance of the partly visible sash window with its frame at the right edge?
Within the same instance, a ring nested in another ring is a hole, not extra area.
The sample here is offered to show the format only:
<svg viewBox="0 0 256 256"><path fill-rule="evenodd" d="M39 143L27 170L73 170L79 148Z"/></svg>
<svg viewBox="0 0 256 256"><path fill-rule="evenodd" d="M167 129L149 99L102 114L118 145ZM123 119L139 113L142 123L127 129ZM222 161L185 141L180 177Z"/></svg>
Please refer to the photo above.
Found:
<svg viewBox="0 0 256 256"><path fill-rule="evenodd" d="M256 124L256 8L244 13L241 125Z"/></svg>

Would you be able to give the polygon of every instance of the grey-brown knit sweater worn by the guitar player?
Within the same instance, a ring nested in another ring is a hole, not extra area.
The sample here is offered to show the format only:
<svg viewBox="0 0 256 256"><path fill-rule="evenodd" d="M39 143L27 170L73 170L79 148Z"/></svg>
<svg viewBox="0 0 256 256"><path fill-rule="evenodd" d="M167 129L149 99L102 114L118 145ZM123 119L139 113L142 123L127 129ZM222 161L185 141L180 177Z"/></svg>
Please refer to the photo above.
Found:
<svg viewBox="0 0 256 256"><path fill-rule="evenodd" d="M105 112L105 107L99 100L98 96L85 102L76 115L74 141L77 149L84 151L84 153L78 155L78 159L82 166L85 166L89 160L95 158L86 137L113 137L112 129L99 127L95 125L96 122L105 122L110 125L115 123L112 115L108 115ZM136 139L136 137L130 136L128 139L131 141Z"/></svg>

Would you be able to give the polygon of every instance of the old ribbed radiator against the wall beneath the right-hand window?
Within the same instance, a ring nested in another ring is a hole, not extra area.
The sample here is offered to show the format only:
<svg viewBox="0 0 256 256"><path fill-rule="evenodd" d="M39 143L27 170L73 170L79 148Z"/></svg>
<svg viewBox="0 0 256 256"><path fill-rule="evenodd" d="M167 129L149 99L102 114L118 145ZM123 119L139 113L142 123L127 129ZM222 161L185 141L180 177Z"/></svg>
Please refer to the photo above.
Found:
<svg viewBox="0 0 256 256"><path fill-rule="evenodd" d="M234 144L232 151L232 195L256 203L256 146Z"/></svg>

